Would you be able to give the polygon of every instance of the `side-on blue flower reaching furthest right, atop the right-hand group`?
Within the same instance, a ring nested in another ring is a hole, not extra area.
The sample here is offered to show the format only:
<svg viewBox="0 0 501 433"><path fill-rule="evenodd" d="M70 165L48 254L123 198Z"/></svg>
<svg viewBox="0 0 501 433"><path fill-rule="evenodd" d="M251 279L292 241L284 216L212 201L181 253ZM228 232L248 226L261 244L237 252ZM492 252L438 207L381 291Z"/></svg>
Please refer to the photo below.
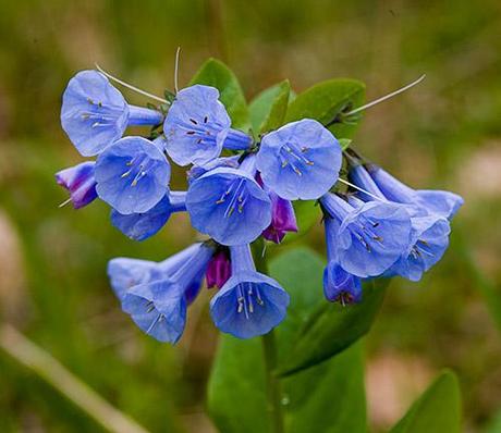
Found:
<svg viewBox="0 0 501 433"><path fill-rule="evenodd" d="M374 164L367 165L367 171L384 197L391 201L417 205L448 220L463 206L464 200L457 194L439 189L413 189Z"/></svg>

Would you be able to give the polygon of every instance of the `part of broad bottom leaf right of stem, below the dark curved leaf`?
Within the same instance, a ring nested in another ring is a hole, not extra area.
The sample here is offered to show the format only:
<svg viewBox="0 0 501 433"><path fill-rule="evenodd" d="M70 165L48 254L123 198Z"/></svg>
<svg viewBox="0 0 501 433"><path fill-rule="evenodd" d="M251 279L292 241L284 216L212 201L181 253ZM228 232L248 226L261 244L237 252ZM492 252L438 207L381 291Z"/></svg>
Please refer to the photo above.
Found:
<svg viewBox="0 0 501 433"><path fill-rule="evenodd" d="M283 381L286 431L367 431L363 350L355 344L328 362Z"/></svg>

